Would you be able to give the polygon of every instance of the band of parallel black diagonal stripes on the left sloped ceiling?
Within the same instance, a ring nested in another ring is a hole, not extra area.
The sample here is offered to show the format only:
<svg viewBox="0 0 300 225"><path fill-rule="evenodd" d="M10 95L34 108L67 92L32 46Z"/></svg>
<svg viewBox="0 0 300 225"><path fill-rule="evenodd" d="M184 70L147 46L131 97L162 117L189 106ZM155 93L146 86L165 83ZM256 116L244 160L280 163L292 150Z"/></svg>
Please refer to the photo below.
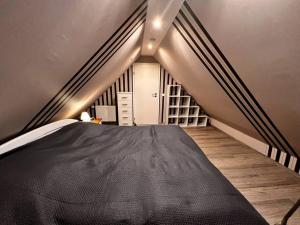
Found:
<svg viewBox="0 0 300 225"><path fill-rule="evenodd" d="M47 123L62 108L61 106L64 106L97 73L116 51L121 48L125 41L144 23L147 9L146 3L147 0L144 0L134 10L113 35L109 37L60 91L32 118L19 134ZM126 34L124 34L125 32ZM94 67L94 65L96 66ZM88 73L91 69L92 71ZM65 101L66 99L67 101Z"/></svg>

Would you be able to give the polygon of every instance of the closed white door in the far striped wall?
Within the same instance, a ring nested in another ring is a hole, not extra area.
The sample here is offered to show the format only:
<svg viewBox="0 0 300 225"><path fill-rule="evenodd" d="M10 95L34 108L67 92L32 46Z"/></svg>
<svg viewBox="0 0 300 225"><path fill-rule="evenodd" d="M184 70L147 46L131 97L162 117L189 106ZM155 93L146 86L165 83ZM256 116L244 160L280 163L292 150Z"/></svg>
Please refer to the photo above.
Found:
<svg viewBox="0 0 300 225"><path fill-rule="evenodd" d="M157 63L133 65L133 115L137 125L158 124L159 70Z"/></svg>

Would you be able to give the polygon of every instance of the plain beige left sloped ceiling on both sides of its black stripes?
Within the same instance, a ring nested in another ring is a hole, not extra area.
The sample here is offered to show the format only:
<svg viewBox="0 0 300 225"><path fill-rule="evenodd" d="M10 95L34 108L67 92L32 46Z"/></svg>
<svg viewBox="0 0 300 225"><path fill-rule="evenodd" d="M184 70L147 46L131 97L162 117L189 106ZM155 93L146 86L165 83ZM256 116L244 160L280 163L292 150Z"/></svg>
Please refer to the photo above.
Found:
<svg viewBox="0 0 300 225"><path fill-rule="evenodd" d="M0 140L20 131L142 3L0 2ZM54 119L93 101L139 55L142 26ZM95 85L97 83L97 85Z"/></svg>

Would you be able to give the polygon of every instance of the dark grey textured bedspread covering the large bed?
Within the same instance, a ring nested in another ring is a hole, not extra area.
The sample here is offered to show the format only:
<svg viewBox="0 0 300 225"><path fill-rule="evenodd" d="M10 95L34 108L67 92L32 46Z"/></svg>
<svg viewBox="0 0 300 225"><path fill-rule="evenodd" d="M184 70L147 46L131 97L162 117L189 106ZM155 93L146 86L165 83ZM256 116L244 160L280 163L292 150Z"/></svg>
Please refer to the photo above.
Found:
<svg viewBox="0 0 300 225"><path fill-rule="evenodd" d="M78 122L0 158L0 224L267 222L180 127Z"/></svg>

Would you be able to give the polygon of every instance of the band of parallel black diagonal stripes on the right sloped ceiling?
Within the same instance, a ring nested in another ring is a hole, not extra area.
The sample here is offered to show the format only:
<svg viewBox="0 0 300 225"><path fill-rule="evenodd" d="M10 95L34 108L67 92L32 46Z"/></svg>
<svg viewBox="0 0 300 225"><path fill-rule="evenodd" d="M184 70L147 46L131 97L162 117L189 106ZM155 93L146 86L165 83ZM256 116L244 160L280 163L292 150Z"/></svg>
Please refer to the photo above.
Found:
<svg viewBox="0 0 300 225"><path fill-rule="evenodd" d="M173 25L206 69L208 69L210 74L248 119L252 126L257 130L257 132L264 138L264 140L277 149L288 152L289 154L299 158L295 150L278 130L274 122L266 114L261 105L255 99L254 95L250 92L249 88L245 85L233 66L221 52L220 48L213 41L187 2L184 2L184 6L180 10L180 13L176 17ZM199 28L200 30L198 30ZM204 39L208 41L206 42ZM205 54L204 50L201 49L200 45L204 46L207 54ZM209 46L212 47L210 48ZM213 52L215 52L217 56ZM205 58L205 60L200 56L200 54ZM227 70L224 67L225 65ZM213 71L215 71L218 76L216 76ZM233 98L233 96L235 98Z"/></svg>

